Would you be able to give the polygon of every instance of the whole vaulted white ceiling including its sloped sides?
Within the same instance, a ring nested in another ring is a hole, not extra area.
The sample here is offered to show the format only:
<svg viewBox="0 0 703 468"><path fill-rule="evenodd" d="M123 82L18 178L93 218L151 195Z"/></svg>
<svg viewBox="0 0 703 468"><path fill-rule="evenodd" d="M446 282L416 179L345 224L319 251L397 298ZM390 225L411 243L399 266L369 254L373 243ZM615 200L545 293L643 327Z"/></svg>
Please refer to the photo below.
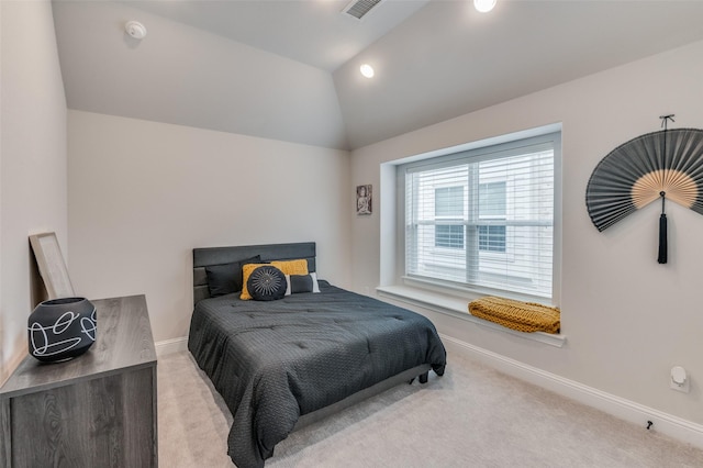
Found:
<svg viewBox="0 0 703 468"><path fill-rule="evenodd" d="M70 109L343 149L703 40L703 1L498 1L356 21L344 0L54 0L54 20Z"/></svg>

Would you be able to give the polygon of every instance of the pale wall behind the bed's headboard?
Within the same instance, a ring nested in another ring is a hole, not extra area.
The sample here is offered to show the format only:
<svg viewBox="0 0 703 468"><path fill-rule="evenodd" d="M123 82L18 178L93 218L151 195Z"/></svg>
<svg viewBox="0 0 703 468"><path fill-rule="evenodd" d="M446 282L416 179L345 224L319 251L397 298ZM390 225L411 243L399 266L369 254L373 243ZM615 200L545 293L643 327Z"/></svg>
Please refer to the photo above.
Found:
<svg viewBox="0 0 703 468"><path fill-rule="evenodd" d="M157 342L188 334L193 247L315 241L348 285L345 151L74 110L68 147L74 288L145 293Z"/></svg>

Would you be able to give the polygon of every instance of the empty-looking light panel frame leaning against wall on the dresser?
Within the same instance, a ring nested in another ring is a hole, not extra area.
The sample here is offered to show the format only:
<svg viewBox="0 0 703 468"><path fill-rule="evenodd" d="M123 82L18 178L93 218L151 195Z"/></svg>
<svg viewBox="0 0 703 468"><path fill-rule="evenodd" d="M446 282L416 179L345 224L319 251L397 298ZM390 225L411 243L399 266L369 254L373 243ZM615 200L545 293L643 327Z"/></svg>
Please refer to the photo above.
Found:
<svg viewBox="0 0 703 468"><path fill-rule="evenodd" d="M40 268L40 275L49 299L76 296L68 276L56 233L42 233L30 236L30 244Z"/></svg>

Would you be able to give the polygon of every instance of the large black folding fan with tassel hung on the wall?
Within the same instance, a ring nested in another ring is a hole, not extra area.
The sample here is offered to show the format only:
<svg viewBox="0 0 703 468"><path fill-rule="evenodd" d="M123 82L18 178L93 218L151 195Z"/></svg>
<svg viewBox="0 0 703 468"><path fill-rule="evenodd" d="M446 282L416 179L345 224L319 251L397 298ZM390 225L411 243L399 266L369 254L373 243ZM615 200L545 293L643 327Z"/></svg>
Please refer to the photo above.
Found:
<svg viewBox="0 0 703 468"><path fill-rule="evenodd" d="M603 231L660 199L658 261L666 264L665 201L703 214L703 130L668 130L673 114L660 119L663 130L637 136L601 159L589 179L585 204Z"/></svg>

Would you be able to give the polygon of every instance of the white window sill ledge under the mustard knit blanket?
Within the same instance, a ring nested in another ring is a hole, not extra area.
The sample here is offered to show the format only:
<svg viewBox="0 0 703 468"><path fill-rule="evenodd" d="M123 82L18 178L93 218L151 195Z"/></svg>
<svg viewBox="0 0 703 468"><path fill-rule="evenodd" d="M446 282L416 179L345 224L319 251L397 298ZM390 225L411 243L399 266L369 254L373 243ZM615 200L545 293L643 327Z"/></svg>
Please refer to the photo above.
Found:
<svg viewBox="0 0 703 468"><path fill-rule="evenodd" d="M439 294L432 291L423 291L406 286L379 286L376 291L381 298L388 298L412 305L419 305L435 312L451 315L457 319L472 322L487 328L507 333L510 335L520 336L524 339L531 339L544 343L550 346L562 347L567 341L566 335L551 334L544 332L524 333L515 330L506 328L488 320L473 316L468 311L468 300L446 294Z"/></svg>

